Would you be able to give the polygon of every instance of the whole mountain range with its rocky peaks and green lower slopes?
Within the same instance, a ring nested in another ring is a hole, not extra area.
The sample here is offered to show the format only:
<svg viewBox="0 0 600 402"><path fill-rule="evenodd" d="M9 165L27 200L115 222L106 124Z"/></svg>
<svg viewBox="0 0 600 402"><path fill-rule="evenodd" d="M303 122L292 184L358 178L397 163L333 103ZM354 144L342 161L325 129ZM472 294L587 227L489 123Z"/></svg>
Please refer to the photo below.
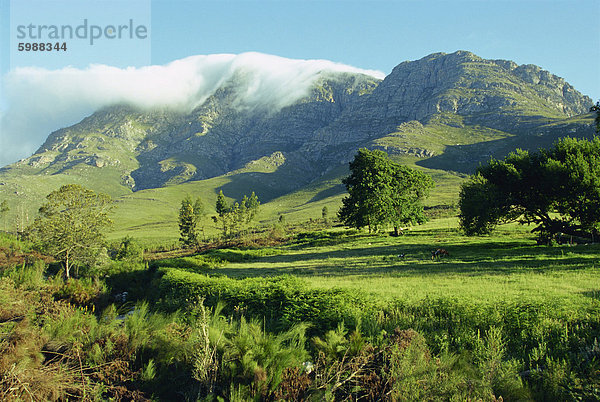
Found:
<svg viewBox="0 0 600 402"><path fill-rule="evenodd" d="M403 62L383 81L324 71L284 107L244 104L240 94L251 90L240 73L191 112L114 105L53 132L34 155L0 169L8 219L23 223L70 182L121 197L148 224L170 221L182 194L212 203L219 189L236 198L255 190L263 203L297 212L339 201L339 178L360 147L432 173L457 172L435 173L457 188L491 156L593 133L592 100L562 78L464 51Z"/></svg>

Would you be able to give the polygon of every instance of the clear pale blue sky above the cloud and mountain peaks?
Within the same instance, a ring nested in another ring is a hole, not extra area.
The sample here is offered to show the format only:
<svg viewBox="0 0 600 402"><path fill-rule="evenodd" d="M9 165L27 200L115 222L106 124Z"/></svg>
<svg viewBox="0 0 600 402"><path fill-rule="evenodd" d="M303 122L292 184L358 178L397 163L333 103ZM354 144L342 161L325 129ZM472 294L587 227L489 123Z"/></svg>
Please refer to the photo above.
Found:
<svg viewBox="0 0 600 402"><path fill-rule="evenodd" d="M19 26L76 28L84 21L98 29L131 22L147 28L147 35L127 37L126 29L121 39L102 37L90 45L86 32L85 39L57 40L68 44L66 52L18 51L19 43L34 42L17 36ZM51 130L79 121L96 105L85 99L74 106L56 102L73 110L64 115L54 113L55 102L38 96L35 88L16 95L13 88L11 93L6 77L24 67L140 68L192 55L253 51L331 60L387 74L402 61L469 50L483 58L539 65L596 101L600 99L598 21L598 0L0 0L0 117L23 114L36 102L41 106L33 110L48 115L38 119L41 128L37 129L42 131L35 135L28 136L30 128L25 126L9 132L0 125L0 148L8 149L9 140L17 141L15 132L23 133L22 149L11 155L24 156ZM3 162L0 155L0 165Z"/></svg>

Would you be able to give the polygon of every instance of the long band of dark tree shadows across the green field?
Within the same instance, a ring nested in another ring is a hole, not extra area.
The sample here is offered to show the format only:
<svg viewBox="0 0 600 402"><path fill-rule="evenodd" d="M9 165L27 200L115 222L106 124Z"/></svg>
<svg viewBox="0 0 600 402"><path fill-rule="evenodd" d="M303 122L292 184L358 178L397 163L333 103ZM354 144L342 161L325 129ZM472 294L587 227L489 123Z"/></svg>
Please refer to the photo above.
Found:
<svg viewBox="0 0 600 402"><path fill-rule="evenodd" d="M338 243L343 244L343 243ZM247 267L224 267L215 273L230 277L295 276L412 276L412 275L509 275L523 272L564 272L593 264L592 250L585 246L537 247L523 242L481 242L438 245L450 257L431 260L435 246L420 243L348 247L331 251L266 256ZM404 255L401 257L401 255ZM262 265L262 266L261 266ZM264 267L270 265L270 267Z"/></svg>

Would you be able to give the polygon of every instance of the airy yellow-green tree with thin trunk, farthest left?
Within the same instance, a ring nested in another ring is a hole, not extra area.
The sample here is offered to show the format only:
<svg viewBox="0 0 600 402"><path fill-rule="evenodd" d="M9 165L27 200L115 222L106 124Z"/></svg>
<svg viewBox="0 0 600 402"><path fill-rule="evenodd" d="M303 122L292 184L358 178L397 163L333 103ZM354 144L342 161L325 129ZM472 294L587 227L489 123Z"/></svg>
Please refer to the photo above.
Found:
<svg viewBox="0 0 600 402"><path fill-rule="evenodd" d="M67 184L48 194L40 216L30 228L32 237L65 267L70 277L73 265L92 264L105 243L103 230L112 199L77 184Z"/></svg>

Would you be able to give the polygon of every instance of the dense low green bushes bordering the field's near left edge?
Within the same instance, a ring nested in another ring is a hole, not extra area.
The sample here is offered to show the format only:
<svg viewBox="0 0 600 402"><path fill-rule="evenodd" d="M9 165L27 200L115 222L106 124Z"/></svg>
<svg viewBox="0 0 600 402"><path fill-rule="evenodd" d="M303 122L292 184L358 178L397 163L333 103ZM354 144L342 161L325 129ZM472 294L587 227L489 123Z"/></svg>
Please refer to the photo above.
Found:
<svg viewBox="0 0 600 402"><path fill-rule="evenodd" d="M274 328L311 322L316 333L344 321L356 325L361 312L373 312L376 300L341 289L309 289L293 277L209 277L174 268L161 268L158 297L167 311L187 309L190 300L202 298L208 306L224 302L233 313L243 308L249 316L264 317Z"/></svg>

